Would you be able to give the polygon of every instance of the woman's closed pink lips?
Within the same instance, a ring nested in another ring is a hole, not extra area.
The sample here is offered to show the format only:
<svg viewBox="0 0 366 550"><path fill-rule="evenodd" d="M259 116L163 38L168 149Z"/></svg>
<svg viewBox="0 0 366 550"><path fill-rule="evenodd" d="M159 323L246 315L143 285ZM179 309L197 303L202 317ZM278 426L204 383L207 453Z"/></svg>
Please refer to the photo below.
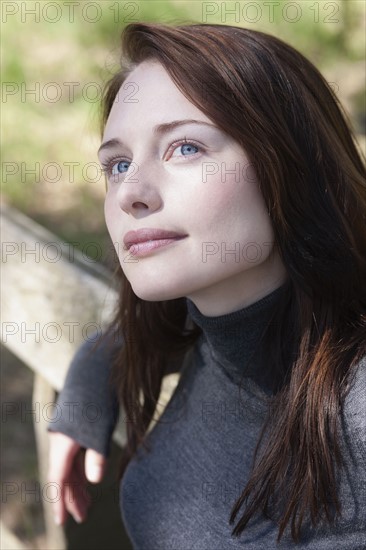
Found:
<svg viewBox="0 0 366 550"><path fill-rule="evenodd" d="M137 231L128 231L123 237L123 243L127 250L133 245L140 245L135 247L135 250L131 251L131 253L134 255L140 255L141 253L142 255L144 252L155 250L160 246L165 246L184 237L187 237L187 234L166 229L144 227Z"/></svg>

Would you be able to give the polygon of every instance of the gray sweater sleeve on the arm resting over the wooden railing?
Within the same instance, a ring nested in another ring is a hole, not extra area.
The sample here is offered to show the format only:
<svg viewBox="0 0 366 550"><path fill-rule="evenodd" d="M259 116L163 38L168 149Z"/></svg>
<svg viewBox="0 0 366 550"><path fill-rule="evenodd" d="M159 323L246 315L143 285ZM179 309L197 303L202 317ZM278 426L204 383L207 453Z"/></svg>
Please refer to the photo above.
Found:
<svg viewBox="0 0 366 550"><path fill-rule="evenodd" d="M83 342L73 357L47 430L108 456L119 404L111 384L114 355L122 345L111 335Z"/></svg>

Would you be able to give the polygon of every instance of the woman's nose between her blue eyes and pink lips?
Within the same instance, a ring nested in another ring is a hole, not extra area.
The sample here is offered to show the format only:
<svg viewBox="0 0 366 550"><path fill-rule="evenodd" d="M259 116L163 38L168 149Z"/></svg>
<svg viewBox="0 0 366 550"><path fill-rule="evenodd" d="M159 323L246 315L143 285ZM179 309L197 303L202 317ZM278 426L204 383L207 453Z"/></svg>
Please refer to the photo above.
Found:
<svg viewBox="0 0 366 550"><path fill-rule="evenodd" d="M159 210L163 204L158 174L150 166L132 162L120 184L117 200L120 208L135 217Z"/></svg>

